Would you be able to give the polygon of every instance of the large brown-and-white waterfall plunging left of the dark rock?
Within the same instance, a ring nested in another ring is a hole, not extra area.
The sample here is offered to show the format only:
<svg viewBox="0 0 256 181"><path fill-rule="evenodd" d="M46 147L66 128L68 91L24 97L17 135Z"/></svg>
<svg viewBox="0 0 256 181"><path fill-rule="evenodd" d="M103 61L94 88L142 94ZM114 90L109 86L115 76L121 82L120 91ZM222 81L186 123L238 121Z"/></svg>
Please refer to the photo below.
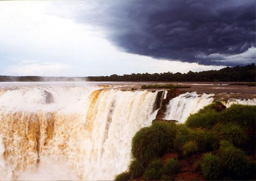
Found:
<svg viewBox="0 0 256 181"><path fill-rule="evenodd" d="M111 180L126 170L132 137L156 116L157 92L101 88L2 90L0 171L9 175L0 179Z"/></svg>

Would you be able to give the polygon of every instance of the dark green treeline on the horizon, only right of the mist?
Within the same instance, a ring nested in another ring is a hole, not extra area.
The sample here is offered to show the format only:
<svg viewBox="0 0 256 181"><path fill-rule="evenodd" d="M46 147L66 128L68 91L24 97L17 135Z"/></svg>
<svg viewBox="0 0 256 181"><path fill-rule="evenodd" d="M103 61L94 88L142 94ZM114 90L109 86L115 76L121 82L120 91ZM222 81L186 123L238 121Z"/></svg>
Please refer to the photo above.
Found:
<svg viewBox="0 0 256 181"><path fill-rule="evenodd" d="M89 81L124 81L124 82L255 82L255 64L246 66L226 67L221 70L192 72L186 74L177 72L155 73L155 74L124 74L118 76L89 76Z"/></svg>

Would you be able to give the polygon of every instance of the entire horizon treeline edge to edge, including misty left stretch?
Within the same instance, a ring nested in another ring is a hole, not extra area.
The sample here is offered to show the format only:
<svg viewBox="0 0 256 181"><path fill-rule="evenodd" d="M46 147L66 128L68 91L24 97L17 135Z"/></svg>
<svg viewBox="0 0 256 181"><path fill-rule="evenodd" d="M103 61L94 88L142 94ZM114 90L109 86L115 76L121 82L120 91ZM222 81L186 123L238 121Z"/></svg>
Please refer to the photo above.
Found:
<svg viewBox="0 0 256 181"><path fill-rule="evenodd" d="M42 77L42 76L0 76L0 82L55 82L55 81L96 81L96 82L255 82L255 64L226 67L221 70L177 72L155 74L113 74L111 76L88 77Z"/></svg>

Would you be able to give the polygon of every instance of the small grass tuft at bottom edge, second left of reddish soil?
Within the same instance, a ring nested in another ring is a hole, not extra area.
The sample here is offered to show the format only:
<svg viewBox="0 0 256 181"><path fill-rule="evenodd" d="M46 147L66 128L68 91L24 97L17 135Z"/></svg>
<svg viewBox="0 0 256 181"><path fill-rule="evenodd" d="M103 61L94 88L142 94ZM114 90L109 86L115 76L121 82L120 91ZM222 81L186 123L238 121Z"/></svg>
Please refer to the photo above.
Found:
<svg viewBox="0 0 256 181"><path fill-rule="evenodd" d="M143 176L145 180L159 180L163 175L163 161L161 159L155 159L148 164Z"/></svg>

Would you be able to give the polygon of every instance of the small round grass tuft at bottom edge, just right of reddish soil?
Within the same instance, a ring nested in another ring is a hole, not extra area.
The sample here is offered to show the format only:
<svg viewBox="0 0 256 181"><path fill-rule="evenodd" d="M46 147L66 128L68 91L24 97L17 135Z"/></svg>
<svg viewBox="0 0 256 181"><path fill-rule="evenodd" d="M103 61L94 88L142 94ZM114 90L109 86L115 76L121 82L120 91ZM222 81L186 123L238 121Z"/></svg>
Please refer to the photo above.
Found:
<svg viewBox="0 0 256 181"><path fill-rule="evenodd" d="M212 155L212 153L204 155L201 168L207 180L218 180L221 176L221 161L217 156Z"/></svg>

